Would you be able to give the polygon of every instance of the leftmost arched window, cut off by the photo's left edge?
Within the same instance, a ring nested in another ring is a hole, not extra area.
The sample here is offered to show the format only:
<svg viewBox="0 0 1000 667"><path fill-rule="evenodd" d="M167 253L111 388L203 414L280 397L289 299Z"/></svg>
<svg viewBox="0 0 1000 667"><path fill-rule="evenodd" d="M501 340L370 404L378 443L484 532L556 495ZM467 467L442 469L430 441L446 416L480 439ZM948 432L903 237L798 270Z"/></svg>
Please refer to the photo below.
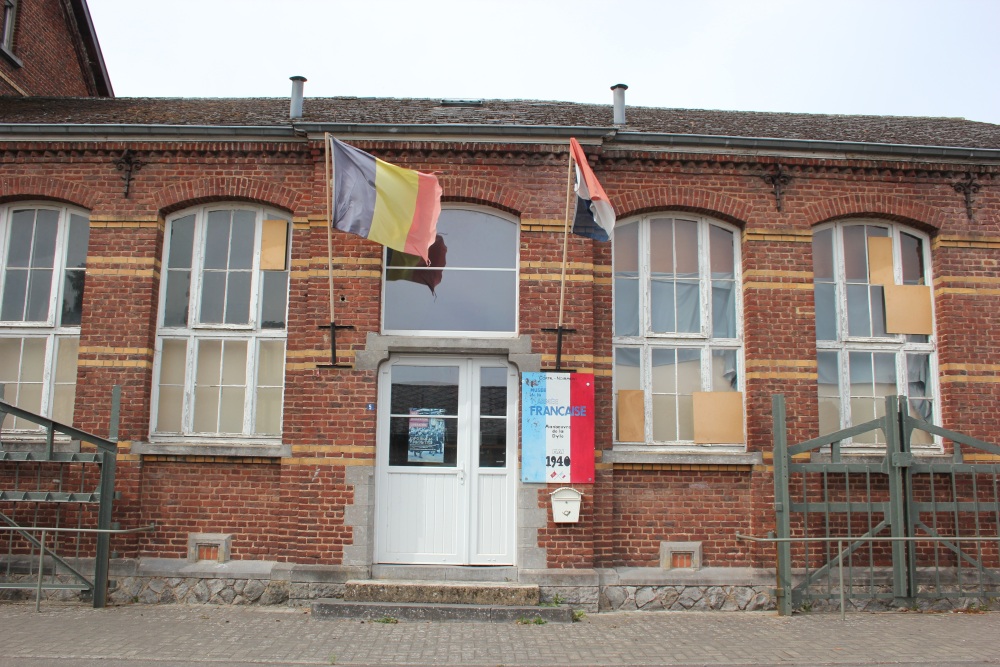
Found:
<svg viewBox="0 0 1000 667"><path fill-rule="evenodd" d="M73 422L90 222L51 204L0 206L0 385L23 410ZM37 431L8 415L3 429Z"/></svg>

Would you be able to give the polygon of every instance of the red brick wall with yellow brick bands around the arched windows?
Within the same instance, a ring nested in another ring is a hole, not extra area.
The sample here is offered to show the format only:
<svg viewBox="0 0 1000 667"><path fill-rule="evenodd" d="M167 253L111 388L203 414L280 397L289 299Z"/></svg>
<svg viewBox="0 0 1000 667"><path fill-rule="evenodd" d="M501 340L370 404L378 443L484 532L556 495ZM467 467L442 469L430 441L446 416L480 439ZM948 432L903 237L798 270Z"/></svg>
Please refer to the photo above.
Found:
<svg viewBox="0 0 1000 667"><path fill-rule="evenodd" d="M522 220L520 332L531 336L543 366L553 367L555 336L543 329L558 322L553 267L562 256L565 146L357 144L441 173L448 201L493 206ZM330 318L321 143L131 143L145 166L129 198L113 163L125 148L0 144L0 201L65 201L88 209L94 220L81 333L81 347L91 351L81 356L77 425L105 434L111 386L120 384L121 439L148 437L162 221L196 204L252 201L296 221L283 434L294 454L273 461L124 457L116 517L125 526L155 521L160 528L116 540L115 548L123 555L181 556L189 532L233 532L237 558L341 562L343 546L353 540L343 526L353 499L344 469L373 464L377 413L366 404L377 400L377 379L372 371L310 366L329 361L328 332L319 328ZM764 464L637 469L599 459L595 483L584 489L582 523L539 530L550 567L654 565L661 541L701 541L709 566L772 564L772 551L739 543L735 534L762 536L773 528L772 395L787 398L791 441L817 432L809 235L825 221L874 217L932 235L935 279L950 279L935 283L944 423L998 439L1000 371L991 360L1000 349L1000 194L990 173L980 176L984 187L970 221L952 188L963 172L951 165L783 159L792 180L779 211L761 178L774 168L773 158L606 148L593 162L620 219L684 210L742 230L747 449L761 453ZM339 360L349 363L379 327L381 250L335 233L333 256L342 272L337 322L354 327L338 332ZM564 324L575 332L566 335L563 354L568 367L597 374L596 442L603 454L613 421L610 247L571 237L569 260L577 265L570 275L579 279L567 283ZM547 506L550 490L539 492L540 506Z"/></svg>

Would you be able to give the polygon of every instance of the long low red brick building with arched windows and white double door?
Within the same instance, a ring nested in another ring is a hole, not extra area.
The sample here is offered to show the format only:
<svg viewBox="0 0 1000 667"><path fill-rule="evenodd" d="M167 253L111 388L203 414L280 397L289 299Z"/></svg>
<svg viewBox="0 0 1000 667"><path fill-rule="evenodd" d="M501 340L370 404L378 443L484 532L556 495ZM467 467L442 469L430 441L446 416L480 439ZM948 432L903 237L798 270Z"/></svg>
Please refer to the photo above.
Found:
<svg viewBox="0 0 1000 667"><path fill-rule="evenodd" d="M307 97L297 118L281 99L0 99L0 383L100 435L122 387L115 519L157 530L114 539L112 599L175 578L281 601L435 567L590 608L709 587L728 597L698 604L759 608L774 552L737 534L774 529L773 395L793 442L893 394L997 440L1000 128L617 92ZM326 133L438 174L435 275L330 242ZM520 481L519 378L555 366L570 137L618 223L568 238L562 362L595 376L596 473L564 524L555 485ZM425 460L408 434L427 415L445 435ZM5 446L31 440L18 427Z"/></svg>

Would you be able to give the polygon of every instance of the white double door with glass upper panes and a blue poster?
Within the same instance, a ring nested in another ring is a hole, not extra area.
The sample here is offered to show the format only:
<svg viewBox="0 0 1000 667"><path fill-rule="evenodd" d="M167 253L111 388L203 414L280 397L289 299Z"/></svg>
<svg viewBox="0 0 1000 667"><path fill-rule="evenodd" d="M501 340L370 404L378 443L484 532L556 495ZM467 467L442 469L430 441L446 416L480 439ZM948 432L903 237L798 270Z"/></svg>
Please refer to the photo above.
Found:
<svg viewBox="0 0 1000 667"><path fill-rule="evenodd" d="M382 366L377 562L514 564L517 389L501 358Z"/></svg>

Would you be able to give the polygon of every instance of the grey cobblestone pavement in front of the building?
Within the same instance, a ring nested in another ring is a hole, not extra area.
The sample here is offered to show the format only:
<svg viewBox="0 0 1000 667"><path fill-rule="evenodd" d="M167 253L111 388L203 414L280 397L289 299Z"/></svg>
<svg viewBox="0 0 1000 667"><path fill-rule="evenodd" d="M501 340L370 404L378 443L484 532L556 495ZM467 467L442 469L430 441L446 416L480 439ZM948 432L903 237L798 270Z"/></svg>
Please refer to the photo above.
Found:
<svg viewBox="0 0 1000 667"><path fill-rule="evenodd" d="M0 666L1000 665L1000 613L617 612L362 623L304 609L0 604Z"/></svg>

